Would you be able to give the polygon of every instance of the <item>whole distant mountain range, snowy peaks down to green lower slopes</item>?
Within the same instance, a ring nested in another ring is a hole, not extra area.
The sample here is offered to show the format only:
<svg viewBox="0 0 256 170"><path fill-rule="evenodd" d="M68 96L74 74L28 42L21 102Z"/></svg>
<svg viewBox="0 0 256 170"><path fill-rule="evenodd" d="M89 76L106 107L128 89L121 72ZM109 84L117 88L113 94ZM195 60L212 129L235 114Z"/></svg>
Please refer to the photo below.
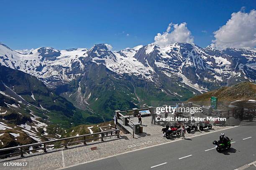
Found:
<svg viewBox="0 0 256 170"><path fill-rule="evenodd" d="M221 86L256 81L255 51L220 51L188 43L164 48L152 43L120 51L111 51L105 44L89 50L23 51L1 43L0 64L38 77L79 108L95 112L187 100ZM110 99L122 102L106 104Z"/></svg>

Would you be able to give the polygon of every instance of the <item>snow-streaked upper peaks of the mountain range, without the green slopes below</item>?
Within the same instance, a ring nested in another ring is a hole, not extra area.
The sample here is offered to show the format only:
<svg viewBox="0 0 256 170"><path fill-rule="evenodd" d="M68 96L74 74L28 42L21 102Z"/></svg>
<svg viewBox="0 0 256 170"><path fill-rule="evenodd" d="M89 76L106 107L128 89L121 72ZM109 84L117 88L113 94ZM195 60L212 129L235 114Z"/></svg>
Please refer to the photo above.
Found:
<svg viewBox="0 0 256 170"><path fill-rule="evenodd" d="M105 65L118 75L135 75L146 81L159 81L159 74L181 80L197 92L211 90L209 83L234 84L236 81L255 81L256 52L251 50L215 50L187 43L174 43L160 48L139 45L125 50L110 51L105 44L90 50L73 48L56 50L40 47L31 52L12 50L0 43L0 64L26 72L56 87L82 76L91 62Z"/></svg>

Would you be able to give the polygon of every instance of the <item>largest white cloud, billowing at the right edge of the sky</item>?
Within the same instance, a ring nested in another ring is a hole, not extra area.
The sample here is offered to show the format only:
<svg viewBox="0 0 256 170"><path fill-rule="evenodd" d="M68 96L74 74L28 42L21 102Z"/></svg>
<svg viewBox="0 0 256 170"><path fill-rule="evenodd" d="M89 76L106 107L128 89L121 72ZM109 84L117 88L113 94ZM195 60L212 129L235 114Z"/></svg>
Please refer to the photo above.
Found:
<svg viewBox="0 0 256 170"><path fill-rule="evenodd" d="M245 13L244 8L238 13L231 14L231 18L219 30L213 32L215 40L211 46L217 49L228 47L256 46L256 11Z"/></svg>

